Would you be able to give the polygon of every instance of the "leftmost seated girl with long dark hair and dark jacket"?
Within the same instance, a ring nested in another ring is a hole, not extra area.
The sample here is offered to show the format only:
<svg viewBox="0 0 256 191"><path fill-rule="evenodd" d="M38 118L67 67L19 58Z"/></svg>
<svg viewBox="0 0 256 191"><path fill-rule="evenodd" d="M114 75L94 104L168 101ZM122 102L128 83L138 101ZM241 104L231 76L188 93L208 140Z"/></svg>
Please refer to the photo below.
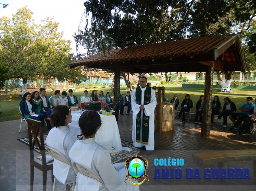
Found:
<svg viewBox="0 0 256 191"><path fill-rule="evenodd" d="M42 125L44 126L45 115L37 114L38 116L34 116L36 114L35 108L37 108L38 105L33 103L31 97L32 97L32 95L30 92L24 93L24 95L20 101L21 114L22 114L23 118L31 118L31 119L35 119L37 121L41 121Z"/></svg>

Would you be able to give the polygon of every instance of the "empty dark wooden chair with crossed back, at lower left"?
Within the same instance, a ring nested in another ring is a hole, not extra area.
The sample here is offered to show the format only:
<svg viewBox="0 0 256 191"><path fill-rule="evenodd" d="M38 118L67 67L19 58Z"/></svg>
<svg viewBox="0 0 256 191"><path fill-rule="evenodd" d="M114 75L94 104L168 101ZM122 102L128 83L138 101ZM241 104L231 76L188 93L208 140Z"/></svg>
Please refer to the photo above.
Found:
<svg viewBox="0 0 256 191"><path fill-rule="evenodd" d="M52 170L53 181L53 162L46 162L46 153L44 147L43 127L41 121L27 118L28 135L30 143L30 190L33 190L34 185L34 170L35 167L43 172L43 191L46 191L47 171ZM33 140L32 140L33 136ZM40 141L38 139L40 137ZM35 149L38 146L38 150ZM36 153L41 155L42 160L36 158Z"/></svg>

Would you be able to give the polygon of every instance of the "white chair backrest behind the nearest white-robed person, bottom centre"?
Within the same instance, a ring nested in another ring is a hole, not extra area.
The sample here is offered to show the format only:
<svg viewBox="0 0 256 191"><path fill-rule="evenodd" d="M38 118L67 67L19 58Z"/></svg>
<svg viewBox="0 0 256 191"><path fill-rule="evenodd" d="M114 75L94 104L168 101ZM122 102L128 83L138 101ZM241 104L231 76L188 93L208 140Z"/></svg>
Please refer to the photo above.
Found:
<svg viewBox="0 0 256 191"><path fill-rule="evenodd" d="M105 187L104 181L96 172L92 171L87 166L80 165L76 162L73 162L72 164L76 172L80 172L82 175L88 178L92 178L95 181L98 181L100 184L102 184Z"/></svg>

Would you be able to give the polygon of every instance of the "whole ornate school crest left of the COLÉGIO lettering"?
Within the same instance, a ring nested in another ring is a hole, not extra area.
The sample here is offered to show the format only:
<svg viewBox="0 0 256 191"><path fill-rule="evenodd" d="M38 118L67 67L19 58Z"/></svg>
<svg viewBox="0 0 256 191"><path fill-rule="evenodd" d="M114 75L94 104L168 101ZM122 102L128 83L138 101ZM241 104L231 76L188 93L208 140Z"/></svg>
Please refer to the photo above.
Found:
<svg viewBox="0 0 256 191"><path fill-rule="evenodd" d="M148 161L142 156L138 156L137 154L135 156L131 156L130 159L125 161L125 168L127 169L125 181L128 180L132 185L138 186L141 185L145 180L148 180L148 175L146 174Z"/></svg>

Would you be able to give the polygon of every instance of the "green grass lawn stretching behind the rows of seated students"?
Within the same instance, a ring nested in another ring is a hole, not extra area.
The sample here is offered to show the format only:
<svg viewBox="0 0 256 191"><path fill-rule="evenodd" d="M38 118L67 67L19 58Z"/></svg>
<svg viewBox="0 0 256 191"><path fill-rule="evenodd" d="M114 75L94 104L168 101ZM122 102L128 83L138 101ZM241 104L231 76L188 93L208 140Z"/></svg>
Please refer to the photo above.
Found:
<svg viewBox="0 0 256 191"><path fill-rule="evenodd" d="M194 88L181 88L181 85L165 85L165 94L169 101L173 98L174 94L178 95L178 99L180 100L180 104L185 97L185 94L190 94L190 99L193 101L194 107L191 112L195 112L195 105L199 100L200 95L203 95L204 89L194 89ZM91 94L92 89L87 89L89 91L89 95ZM110 88L102 88L96 90L103 90L104 94L110 91ZM81 91L81 92L80 92ZM121 86L121 94L126 94L128 91L126 86ZM97 92L98 93L98 92ZM46 96L49 98L53 95L53 92L47 92ZM83 90L79 90L79 92L74 92L74 95L80 98L83 96ZM236 90L234 89L232 93L224 93L220 92L220 89L213 89L213 96L219 96L220 102L223 105L223 99L225 97L229 97L232 102L235 102L236 107L239 108L240 105L246 103L246 97L252 96L253 99L256 98L256 88L255 90ZM19 103L21 99L18 97L10 98L10 95L0 96L0 122L2 121L11 121L21 118L21 114L19 111ZM254 101L253 101L254 102Z"/></svg>

